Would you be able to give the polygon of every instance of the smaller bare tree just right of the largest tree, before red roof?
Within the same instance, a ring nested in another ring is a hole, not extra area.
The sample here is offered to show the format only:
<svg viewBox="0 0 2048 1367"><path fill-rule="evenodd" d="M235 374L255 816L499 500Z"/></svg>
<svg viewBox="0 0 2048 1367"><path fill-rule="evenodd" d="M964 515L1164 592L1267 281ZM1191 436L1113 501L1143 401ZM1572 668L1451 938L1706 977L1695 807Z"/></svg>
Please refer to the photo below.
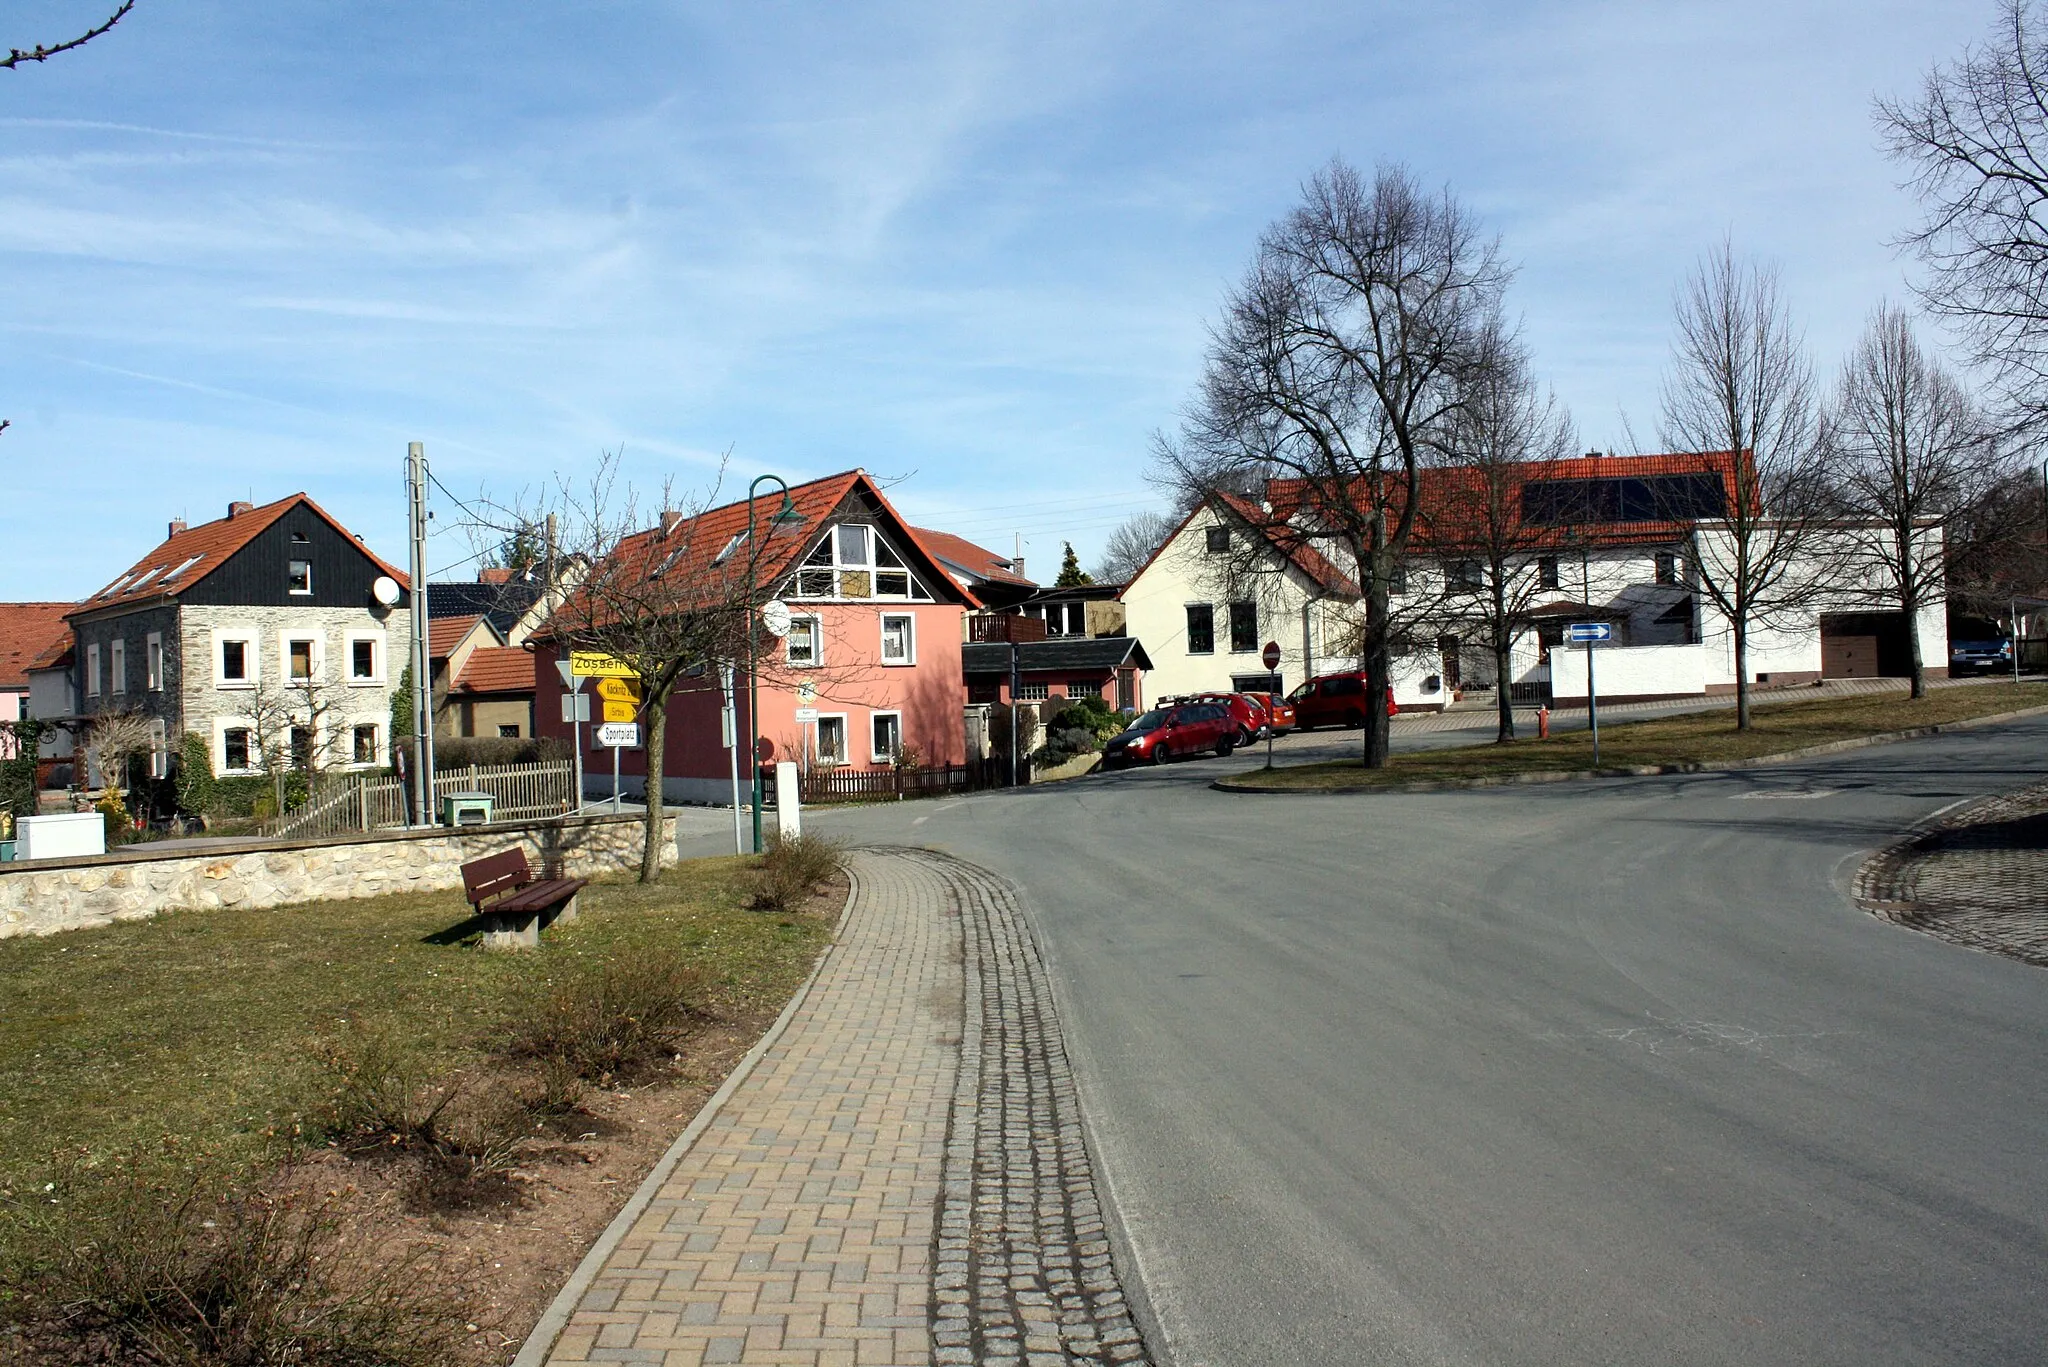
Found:
<svg viewBox="0 0 2048 1367"><path fill-rule="evenodd" d="M1477 621L1493 652L1495 738L1513 740L1513 644L1544 592L1536 557L1559 541L1554 527L1522 519L1522 484L1528 461L1565 459L1577 439L1571 414L1538 391L1528 348L1499 314L1481 332L1452 430L1450 467L1432 480L1421 510L1423 535L1446 566L1458 566L1446 570L1446 586L1456 590L1446 625Z"/></svg>

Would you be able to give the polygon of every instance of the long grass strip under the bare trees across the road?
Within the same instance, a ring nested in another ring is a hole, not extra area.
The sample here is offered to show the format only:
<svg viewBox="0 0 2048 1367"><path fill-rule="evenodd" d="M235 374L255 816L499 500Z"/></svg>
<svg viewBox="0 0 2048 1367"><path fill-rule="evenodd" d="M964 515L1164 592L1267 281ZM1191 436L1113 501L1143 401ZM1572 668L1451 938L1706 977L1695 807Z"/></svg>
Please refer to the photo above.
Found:
<svg viewBox="0 0 2048 1367"><path fill-rule="evenodd" d="M1855 740L1917 726L1939 726L1987 717L2021 707L2048 705L2048 682L1978 685L1935 689L1921 701L1903 693L1880 693L1810 703L1759 703L1751 730L1735 730L1735 709L1714 709L1657 721L1626 721L1599 728L1602 769L1642 764L1706 764L1780 754L1833 740ZM1518 728L1524 738L1458 750L1395 754L1384 769L1362 769L1356 760L1280 764L1231 775L1229 783L1272 791L1370 791L1403 783L1499 779L1526 773L1571 773L1593 767L1593 740L1569 732L1534 740L1534 728Z"/></svg>

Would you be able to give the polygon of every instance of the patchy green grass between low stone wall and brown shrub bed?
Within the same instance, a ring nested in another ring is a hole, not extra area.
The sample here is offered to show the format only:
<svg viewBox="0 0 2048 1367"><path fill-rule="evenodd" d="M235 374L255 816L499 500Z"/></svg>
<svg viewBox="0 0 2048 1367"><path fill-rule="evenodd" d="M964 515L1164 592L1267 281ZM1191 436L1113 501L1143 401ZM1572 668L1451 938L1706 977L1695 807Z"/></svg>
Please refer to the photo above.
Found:
<svg viewBox="0 0 2048 1367"><path fill-rule="evenodd" d="M436 943L461 892L319 902L0 941L0 1191L53 1154L172 1144L256 1156L305 1111L324 1045L391 1027L436 1068L481 1062L498 1027L559 965L676 945L702 971L694 1006L774 1012L817 957L815 916L745 910L750 861L692 861L655 885L600 881L539 953Z"/></svg>

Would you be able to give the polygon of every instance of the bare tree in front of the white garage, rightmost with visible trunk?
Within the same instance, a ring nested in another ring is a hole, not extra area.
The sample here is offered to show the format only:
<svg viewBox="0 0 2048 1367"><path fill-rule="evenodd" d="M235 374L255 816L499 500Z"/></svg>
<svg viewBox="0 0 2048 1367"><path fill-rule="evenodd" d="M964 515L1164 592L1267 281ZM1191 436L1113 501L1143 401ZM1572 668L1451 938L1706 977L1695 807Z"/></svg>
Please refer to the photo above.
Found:
<svg viewBox="0 0 2048 1367"><path fill-rule="evenodd" d="M1878 592L1905 613L1913 697L1925 697L1919 613L1948 580L1937 523L1991 486L1997 443L1968 391L1894 305L1870 316L1823 430L1843 535L1880 574Z"/></svg>

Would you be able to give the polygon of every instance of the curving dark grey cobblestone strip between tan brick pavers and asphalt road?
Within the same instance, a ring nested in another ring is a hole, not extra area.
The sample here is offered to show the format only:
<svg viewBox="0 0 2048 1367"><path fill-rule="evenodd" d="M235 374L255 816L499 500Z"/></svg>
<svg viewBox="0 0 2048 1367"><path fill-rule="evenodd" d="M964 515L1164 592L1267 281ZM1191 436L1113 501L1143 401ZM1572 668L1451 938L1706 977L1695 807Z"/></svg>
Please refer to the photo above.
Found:
<svg viewBox="0 0 2048 1367"><path fill-rule="evenodd" d="M997 877L928 851L956 900L967 1010L934 1240L932 1361L1153 1361L1110 1252L1038 947Z"/></svg>

